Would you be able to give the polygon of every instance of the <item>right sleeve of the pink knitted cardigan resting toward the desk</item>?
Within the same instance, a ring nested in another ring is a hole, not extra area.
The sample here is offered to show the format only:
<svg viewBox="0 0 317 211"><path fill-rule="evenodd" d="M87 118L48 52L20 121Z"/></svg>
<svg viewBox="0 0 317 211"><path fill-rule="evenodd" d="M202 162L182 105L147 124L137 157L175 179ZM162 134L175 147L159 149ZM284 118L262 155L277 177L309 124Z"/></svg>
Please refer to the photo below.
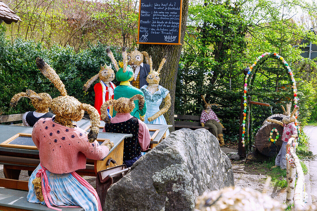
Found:
<svg viewBox="0 0 317 211"><path fill-rule="evenodd" d="M86 140L83 141L81 152L84 153L88 159L101 160L109 154L109 148L107 146L100 146L97 141L89 143Z"/></svg>

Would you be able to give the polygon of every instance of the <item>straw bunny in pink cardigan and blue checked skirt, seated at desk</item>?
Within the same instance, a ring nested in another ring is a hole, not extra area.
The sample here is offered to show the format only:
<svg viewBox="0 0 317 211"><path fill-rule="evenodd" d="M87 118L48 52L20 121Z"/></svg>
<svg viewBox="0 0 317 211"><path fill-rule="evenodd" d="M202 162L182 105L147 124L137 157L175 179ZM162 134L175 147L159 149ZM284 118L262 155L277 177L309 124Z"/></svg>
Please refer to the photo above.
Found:
<svg viewBox="0 0 317 211"><path fill-rule="evenodd" d="M68 96L65 85L55 70L41 58L36 65L60 91L61 96L52 100L53 118L41 118L33 127L32 140L39 150L40 164L29 178L27 200L55 206L79 206L85 211L102 211L95 189L75 173L86 168L87 158L100 160L107 156L113 143L100 146L96 141L100 116L91 105L82 104ZM89 134L73 125L87 111L92 121ZM43 183L45 181L45 185Z"/></svg>

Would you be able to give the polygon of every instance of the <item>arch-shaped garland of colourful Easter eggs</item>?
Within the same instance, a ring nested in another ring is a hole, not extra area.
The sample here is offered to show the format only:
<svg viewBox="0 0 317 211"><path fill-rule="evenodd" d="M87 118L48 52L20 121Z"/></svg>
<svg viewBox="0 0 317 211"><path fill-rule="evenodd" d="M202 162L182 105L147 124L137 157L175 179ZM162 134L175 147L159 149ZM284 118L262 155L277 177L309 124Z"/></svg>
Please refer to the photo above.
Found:
<svg viewBox="0 0 317 211"><path fill-rule="evenodd" d="M277 53L264 53L260 56L258 56L256 58L256 61L253 62L253 64L249 67L247 74L245 75L244 78L244 86L243 86L243 105L244 105L244 110L243 110L243 120L242 120L242 146L245 147L245 137L246 137L246 130L245 130L245 124L246 124L246 115L247 115L247 86L248 86L248 78L252 72L252 70L256 69L259 67L260 64L262 64L263 62L265 62L268 58L274 58L278 61L280 61L284 67L284 69L286 69L288 71L288 74L291 77L291 85L292 85L292 89L293 89L293 95L294 95L294 107L297 107L297 103L298 103L298 98L297 98L297 87L296 87L296 81L294 79L294 75L292 72L292 69L289 67L288 63L284 60L284 58L282 56L280 56ZM258 64L258 65L257 65ZM250 78L252 78L252 76L250 76ZM295 118L297 119L297 115L298 113L295 113ZM297 122L295 123L295 125L297 126ZM273 139L274 140L274 139ZM271 141L271 140L270 140ZM273 141L274 142L274 141Z"/></svg>

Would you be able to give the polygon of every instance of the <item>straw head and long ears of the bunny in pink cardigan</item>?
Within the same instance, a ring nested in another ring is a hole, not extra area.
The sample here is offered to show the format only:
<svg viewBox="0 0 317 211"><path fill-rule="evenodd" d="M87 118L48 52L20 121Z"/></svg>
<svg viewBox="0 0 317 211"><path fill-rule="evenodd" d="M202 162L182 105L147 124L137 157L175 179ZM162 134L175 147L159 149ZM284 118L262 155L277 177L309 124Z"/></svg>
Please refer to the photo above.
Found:
<svg viewBox="0 0 317 211"><path fill-rule="evenodd" d="M61 93L61 96L52 99L51 103L52 111L56 114L55 122L66 127L74 128L72 121L81 120L84 111L87 111L92 121L88 141L93 143L97 139L99 132L100 115L98 111L93 106L81 103L76 98L68 96L65 85L55 70L42 58L36 58L36 65L41 73L46 76Z"/></svg>

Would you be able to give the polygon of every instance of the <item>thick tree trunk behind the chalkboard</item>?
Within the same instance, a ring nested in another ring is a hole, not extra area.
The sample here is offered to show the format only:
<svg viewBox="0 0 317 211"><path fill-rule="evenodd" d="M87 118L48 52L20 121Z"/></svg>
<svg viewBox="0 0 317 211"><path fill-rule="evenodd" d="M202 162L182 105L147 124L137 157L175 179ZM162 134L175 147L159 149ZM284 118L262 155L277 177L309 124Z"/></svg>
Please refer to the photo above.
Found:
<svg viewBox="0 0 317 211"><path fill-rule="evenodd" d="M189 0L183 0L182 5L182 24L180 33L180 42L183 43L186 22L188 14L188 2ZM152 56L153 69L158 69L160 62L166 55L167 59L163 69L160 72L160 85L170 91L171 95L171 107L164 114L167 124L173 125L172 131L174 131L174 102L175 102L175 87L176 77L178 71L179 57L181 54L181 45L157 45L157 44L139 44L139 51L146 51Z"/></svg>

